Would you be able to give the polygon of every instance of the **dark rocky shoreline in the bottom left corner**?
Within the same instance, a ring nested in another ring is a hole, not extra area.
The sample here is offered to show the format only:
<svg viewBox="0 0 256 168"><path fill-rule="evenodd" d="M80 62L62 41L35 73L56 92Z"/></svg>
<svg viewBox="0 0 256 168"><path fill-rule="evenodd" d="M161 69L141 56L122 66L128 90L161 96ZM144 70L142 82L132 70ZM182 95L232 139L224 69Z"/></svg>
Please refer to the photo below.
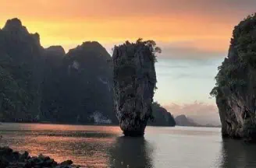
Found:
<svg viewBox="0 0 256 168"><path fill-rule="evenodd" d="M66 160L62 163L55 162L49 156L30 156L26 151L23 154L15 152L9 147L0 147L0 168L71 168L74 166L72 160Z"/></svg>

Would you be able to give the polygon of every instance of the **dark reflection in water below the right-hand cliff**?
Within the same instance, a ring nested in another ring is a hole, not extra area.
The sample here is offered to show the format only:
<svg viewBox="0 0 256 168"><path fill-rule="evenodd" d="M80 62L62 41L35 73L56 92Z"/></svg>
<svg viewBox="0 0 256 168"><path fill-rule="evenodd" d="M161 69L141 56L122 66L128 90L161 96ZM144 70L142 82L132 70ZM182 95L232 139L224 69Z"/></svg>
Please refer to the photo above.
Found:
<svg viewBox="0 0 256 168"><path fill-rule="evenodd" d="M242 141L226 139L222 142L222 168L254 168L256 145Z"/></svg>

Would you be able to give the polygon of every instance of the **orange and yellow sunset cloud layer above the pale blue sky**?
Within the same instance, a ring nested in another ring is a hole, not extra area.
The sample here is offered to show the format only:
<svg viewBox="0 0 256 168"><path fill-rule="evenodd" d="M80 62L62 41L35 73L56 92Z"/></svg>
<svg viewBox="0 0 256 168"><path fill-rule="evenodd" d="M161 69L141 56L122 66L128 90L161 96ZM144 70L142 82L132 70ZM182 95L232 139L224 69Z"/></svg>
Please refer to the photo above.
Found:
<svg viewBox="0 0 256 168"><path fill-rule="evenodd" d="M161 58L226 56L233 26L255 12L254 0L0 0L0 21L19 17L41 44L68 49L86 40L119 44L156 40ZM40 7L39 7L40 6Z"/></svg>

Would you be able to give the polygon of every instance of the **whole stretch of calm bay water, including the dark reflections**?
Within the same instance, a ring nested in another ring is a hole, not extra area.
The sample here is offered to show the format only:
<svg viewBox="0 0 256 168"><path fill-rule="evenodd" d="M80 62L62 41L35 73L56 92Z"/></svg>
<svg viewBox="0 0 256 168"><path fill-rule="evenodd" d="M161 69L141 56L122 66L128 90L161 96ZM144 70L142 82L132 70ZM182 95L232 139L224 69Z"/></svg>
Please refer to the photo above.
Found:
<svg viewBox="0 0 256 168"><path fill-rule="evenodd" d="M124 138L111 126L1 124L0 134L1 145L83 167L256 167L256 145L223 141L220 128L148 127L144 138Z"/></svg>

